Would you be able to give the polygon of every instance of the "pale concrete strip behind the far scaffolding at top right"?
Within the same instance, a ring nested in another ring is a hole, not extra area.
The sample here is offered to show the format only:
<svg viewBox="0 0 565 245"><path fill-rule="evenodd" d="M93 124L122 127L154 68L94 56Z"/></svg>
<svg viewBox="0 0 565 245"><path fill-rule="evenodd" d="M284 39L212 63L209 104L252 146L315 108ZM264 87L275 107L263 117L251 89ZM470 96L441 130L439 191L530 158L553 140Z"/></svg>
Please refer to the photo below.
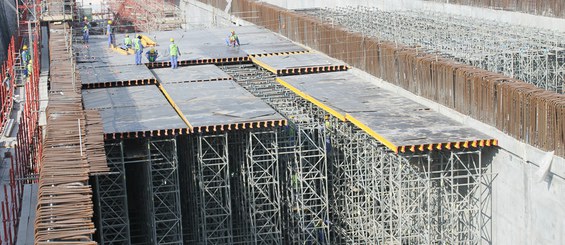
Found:
<svg viewBox="0 0 565 245"><path fill-rule="evenodd" d="M377 7L383 10L427 10L556 31L565 30L565 19L562 18L421 0L264 0L263 2L287 9L360 5Z"/></svg>

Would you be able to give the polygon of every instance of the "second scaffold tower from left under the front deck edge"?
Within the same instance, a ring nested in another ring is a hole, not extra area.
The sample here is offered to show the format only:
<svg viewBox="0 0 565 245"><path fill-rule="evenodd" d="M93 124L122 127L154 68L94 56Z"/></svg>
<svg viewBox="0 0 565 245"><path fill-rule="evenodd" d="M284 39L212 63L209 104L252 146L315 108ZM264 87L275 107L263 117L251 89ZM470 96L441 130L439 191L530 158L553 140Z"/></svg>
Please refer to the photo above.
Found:
<svg viewBox="0 0 565 245"><path fill-rule="evenodd" d="M176 140L149 139L147 151L154 242L183 244Z"/></svg>

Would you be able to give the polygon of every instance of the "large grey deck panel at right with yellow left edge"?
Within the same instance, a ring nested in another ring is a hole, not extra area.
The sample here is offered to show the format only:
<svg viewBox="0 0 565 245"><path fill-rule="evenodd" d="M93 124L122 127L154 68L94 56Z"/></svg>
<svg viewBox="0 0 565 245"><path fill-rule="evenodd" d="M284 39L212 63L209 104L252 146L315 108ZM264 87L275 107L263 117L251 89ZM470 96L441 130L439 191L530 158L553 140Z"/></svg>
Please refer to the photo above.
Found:
<svg viewBox="0 0 565 245"><path fill-rule="evenodd" d="M335 116L354 118L396 146L491 139L350 72L287 76L282 81L321 102Z"/></svg>

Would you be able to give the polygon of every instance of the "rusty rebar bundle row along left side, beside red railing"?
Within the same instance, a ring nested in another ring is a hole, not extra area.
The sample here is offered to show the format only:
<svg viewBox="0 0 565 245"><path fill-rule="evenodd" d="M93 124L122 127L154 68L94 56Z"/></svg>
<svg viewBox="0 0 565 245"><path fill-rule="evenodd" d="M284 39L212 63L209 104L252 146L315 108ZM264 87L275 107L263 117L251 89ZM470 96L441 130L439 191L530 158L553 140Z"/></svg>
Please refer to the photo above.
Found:
<svg viewBox="0 0 565 245"><path fill-rule="evenodd" d="M88 184L107 172L102 124L82 108L75 76L72 37L66 24L50 24L51 90L39 166L35 244L96 244L94 207ZM47 54L44 54L47 55Z"/></svg>

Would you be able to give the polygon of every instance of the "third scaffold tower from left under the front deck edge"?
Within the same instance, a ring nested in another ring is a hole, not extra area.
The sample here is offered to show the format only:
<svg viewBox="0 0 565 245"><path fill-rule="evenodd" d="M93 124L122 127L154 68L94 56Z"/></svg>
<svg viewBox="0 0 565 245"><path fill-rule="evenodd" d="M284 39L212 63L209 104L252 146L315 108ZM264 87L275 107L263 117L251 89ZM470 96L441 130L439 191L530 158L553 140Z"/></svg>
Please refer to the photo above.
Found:
<svg viewBox="0 0 565 245"><path fill-rule="evenodd" d="M200 232L205 244L232 244L228 134L198 135Z"/></svg>

